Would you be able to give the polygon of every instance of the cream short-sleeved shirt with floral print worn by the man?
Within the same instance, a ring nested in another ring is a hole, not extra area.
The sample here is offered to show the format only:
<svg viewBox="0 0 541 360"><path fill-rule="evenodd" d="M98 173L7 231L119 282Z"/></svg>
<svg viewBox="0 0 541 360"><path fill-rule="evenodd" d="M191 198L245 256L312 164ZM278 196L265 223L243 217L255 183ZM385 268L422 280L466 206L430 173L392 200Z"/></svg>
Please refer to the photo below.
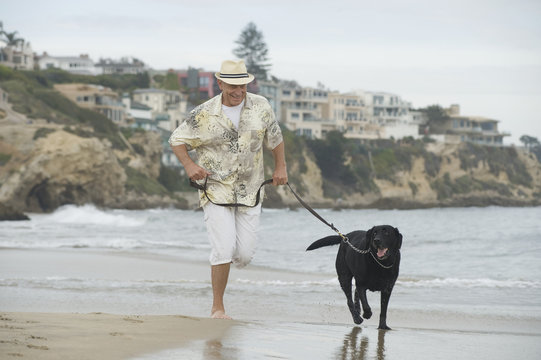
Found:
<svg viewBox="0 0 541 360"><path fill-rule="evenodd" d="M263 144L272 150L282 141L269 102L251 93L246 93L238 129L223 113L220 94L192 110L169 138L171 146L195 150L196 163L212 173L207 194L213 202L245 205L255 204L264 181ZM208 202L202 191L199 198L201 206Z"/></svg>

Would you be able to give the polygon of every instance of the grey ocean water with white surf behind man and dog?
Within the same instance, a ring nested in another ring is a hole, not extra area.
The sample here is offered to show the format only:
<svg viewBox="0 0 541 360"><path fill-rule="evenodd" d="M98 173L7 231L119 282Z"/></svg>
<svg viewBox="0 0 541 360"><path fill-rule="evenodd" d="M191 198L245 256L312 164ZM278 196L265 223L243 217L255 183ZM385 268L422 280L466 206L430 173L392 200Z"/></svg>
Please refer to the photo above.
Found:
<svg viewBox="0 0 541 360"><path fill-rule="evenodd" d="M320 214L343 233L381 224L391 224L402 233L402 263L391 309L541 317L540 207L323 209ZM0 223L0 254L20 250L30 258L61 252L151 256L169 262L206 263L208 259L200 211L104 210L86 205L64 206L51 214L30 214L30 218ZM264 209L252 266L271 274L298 275L291 280L244 278L239 271L230 279L228 292L263 303L271 312L277 303L292 299L320 308L339 306L349 321L334 270L337 247L305 251L313 241L333 234L304 209ZM46 272L40 276L36 271L26 275L0 265L0 309L206 315L206 307L203 313L196 305L176 306L179 296L194 303L209 302L210 281L206 278L171 274L115 278L114 274L77 272L77 264L73 269L69 276ZM96 308L103 299L110 299L107 307ZM377 299L369 299L374 308L379 305ZM232 306L240 308L246 303ZM319 317L336 320L332 312Z"/></svg>

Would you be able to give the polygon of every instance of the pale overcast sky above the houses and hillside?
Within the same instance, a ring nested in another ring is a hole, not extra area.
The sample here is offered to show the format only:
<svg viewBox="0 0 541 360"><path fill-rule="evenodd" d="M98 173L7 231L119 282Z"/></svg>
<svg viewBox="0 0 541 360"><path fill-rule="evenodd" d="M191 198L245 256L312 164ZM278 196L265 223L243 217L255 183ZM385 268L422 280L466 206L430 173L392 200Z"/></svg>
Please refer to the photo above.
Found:
<svg viewBox="0 0 541 360"><path fill-rule="evenodd" d="M499 120L506 143L541 140L541 1L0 0L0 21L53 56L135 56L216 71L254 22L271 73L303 86L384 91L414 107L458 103Z"/></svg>

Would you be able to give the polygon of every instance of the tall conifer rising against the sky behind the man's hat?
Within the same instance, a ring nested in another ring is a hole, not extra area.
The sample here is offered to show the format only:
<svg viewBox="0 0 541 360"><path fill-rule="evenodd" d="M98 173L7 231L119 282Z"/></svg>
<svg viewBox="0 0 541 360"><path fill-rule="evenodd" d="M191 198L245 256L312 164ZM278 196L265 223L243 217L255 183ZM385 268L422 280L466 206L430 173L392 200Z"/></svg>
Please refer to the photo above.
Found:
<svg viewBox="0 0 541 360"><path fill-rule="evenodd" d="M238 44L233 54L246 63L248 72L256 79L267 80L271 65L268 63L269 49L263 40L263 33L257 30L253 22L248 23L235 41Z"/></svg>

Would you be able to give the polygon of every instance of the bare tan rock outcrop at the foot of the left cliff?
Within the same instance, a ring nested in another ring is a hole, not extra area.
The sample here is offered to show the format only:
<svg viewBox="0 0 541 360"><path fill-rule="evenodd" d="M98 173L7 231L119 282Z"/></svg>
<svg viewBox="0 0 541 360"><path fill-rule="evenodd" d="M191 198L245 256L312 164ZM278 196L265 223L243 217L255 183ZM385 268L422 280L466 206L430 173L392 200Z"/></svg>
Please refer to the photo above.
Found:
<svg viewBox="0 0 541 360"><path fill-rule="evenodd" d="M0 203L15 211L49 212L87 203L131 209L186 206L156 181L161 143L153 133L134 137L138 153L115 150L106 139L80 137L39 120L1 121L0 153L9 161L0 165ZM141 191L128 173L159 191Z"/></svg>

